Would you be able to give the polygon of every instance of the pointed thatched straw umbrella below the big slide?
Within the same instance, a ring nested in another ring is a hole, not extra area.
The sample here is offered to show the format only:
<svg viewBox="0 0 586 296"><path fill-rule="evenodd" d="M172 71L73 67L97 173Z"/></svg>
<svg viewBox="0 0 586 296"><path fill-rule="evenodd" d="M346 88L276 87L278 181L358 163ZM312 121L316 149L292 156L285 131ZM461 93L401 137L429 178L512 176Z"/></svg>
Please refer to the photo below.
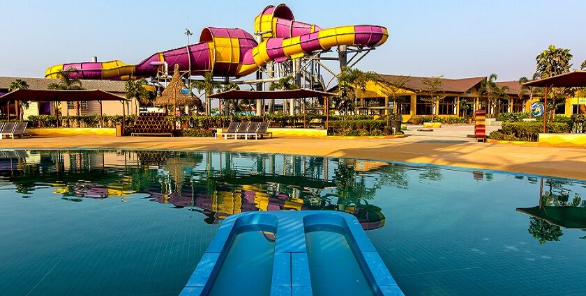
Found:
<svg viewBox="0 0 586 296"><path fill-rule="evenodd" d="M199 109L202 105L202 100L193 95L183 93L183 89L186 88L188 87L183 83L181 75L179 75L179 65L175 64L171 82L163 93L155 99L153 104L158 107L174 107L174 110L177 106L197 106Z"/></svg>

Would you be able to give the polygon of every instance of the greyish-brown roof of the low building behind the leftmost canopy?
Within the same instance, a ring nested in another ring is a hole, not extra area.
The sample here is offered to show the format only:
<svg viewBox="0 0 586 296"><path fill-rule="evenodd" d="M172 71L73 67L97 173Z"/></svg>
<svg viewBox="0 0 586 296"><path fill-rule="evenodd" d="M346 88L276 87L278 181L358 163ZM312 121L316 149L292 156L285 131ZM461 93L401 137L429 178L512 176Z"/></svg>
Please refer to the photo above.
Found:
<svg viewBox="0 0 586 296"><path fill-rule="evenodd" d="M8 90L10 82L14 81L15 79L22 79L27 81L30 89L47 89L48 84L52 82L59 82L57 79L0 76L0 90ZM109 93L126 93L124 84L126 84L124 81L82 79L83 88L99 89L100 91L107 91Z"/></svg>

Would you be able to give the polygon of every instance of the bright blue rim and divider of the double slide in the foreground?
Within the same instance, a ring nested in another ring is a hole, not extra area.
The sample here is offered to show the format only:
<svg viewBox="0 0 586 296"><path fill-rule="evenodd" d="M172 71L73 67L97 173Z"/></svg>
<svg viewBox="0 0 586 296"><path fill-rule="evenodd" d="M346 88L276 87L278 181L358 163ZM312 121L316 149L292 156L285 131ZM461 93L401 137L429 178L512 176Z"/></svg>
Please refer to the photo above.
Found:
<svg viewBox="0 0 586 296"><path fill-rule="evenodd" d="M384 266L382 259L379 256L373 255L373 246L368 241L368 237L363 235L364 231L356 218L344 212L322 212L322 211L301 211L301 212L246 212L239 215L233 215L226 219L220 230L213 238L213 242L204 254L202 261L197 265L193 275L186 284L186 289L183 295L198 296L201 295L202 290L191 290L190 288L202 287L203 290L211 289L217 272L221 270L222 262L218 258L223 258L223 253L218 253L218 250L227 252L230 249L231 238L238 235L241 229L250 225L266 225L265 227L272 228L276 226L276 244L280 248L275 248L275 256L273 259L273 275L271 279L271 292L282 295L287 292L292 295L311 295L311 276L310 266L308 261L308 254L305 251L305 232L306 227L314 225L329 225L344 229L348 237L353 237L356 245L356 254L366 254L363 262L362 270L370 270L375 279L371 285L377 287L383 285L381 291L383 295L393 295L386 293L391 289L386 286L394 286L391 274ZM301 225L301 226L300 226ZM299 235L303 233L303 235ZM362 235L361 235L362 234ZM287 251L291 248L284 247L289 241L285 239L296 238L292 249L296 252ZM300 241L299 241L300 240ZM222 243L226 246L223 247ZM366 250L359 249L359 246L364 246ZM359 263L360 264L360 263ZM215 272L213 271L215 270ZM398 288L392 291L400 291ZM246 295L246 291L241 291Z"/></svg>

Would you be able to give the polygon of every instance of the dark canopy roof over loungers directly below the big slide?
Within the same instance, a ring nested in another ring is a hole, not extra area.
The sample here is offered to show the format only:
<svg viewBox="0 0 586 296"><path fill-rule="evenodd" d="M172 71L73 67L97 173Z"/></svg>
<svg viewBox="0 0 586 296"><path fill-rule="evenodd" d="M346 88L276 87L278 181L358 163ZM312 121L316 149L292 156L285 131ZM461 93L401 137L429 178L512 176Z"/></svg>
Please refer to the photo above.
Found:
<svg viewBox="0 0 586 296"><path fill-rule="evenodd" d="M279 100L279 99L303 99L333 97L335 93L326 93L325 91L313 91L310 89L296 89L292 91L226 91L209 95L208 98L225 99L225 100Z"/></svg>

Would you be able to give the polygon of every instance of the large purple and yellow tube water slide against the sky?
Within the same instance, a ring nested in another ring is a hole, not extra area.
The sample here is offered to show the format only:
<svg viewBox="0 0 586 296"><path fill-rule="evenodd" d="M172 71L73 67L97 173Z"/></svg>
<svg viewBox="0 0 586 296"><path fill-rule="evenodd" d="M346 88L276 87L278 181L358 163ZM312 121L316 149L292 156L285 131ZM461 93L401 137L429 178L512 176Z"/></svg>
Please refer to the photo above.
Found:
<svg viewBox="0 0 586 296"><path fill-rule="evenodd" d="M75 68L73 76L82 79L129 79L156 76L165 63L192 75L212 72L218 77L242 77L259 70L269 61L296 59L338 45L377 47L389 36L384 26L338 26L321 29L315 24L297 22L285 4L267 6L255 18L260 44L243 29L204 28L200 42L149 56L136 65L121 61L64 63L45 72L57 78L59 71Z"/></svg>

